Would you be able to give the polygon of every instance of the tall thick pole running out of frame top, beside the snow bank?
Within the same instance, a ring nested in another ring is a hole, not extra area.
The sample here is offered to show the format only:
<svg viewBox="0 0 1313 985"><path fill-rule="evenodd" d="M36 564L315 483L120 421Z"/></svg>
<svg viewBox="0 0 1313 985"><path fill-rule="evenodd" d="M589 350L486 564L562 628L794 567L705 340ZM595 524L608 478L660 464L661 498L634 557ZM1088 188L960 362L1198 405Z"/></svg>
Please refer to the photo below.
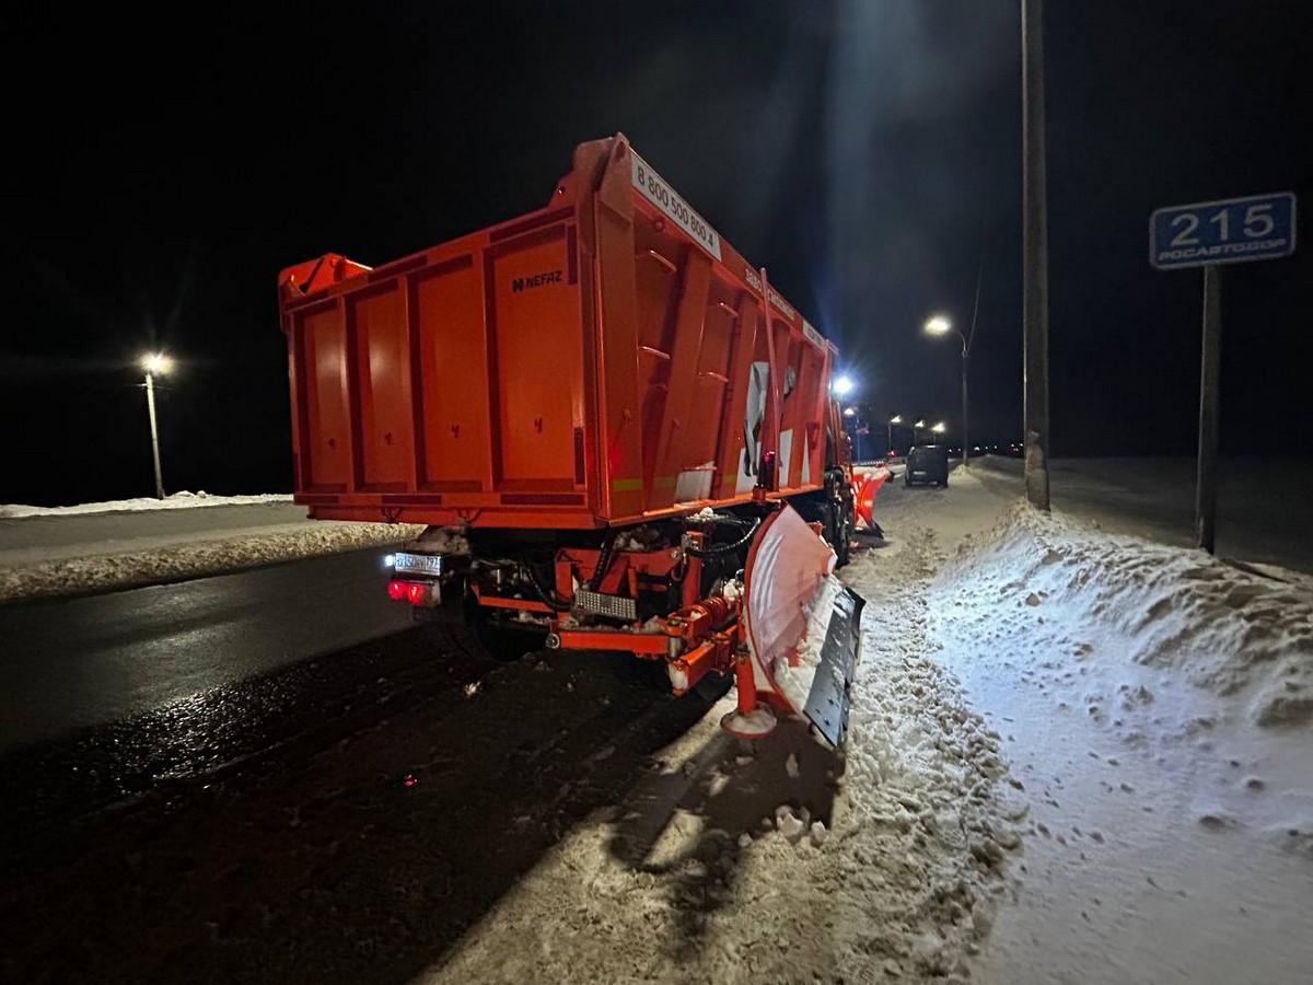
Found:
<svg viewBox="0 0 1313 985"><path fill-rule="evenodd" d="M1022 0L1022 269L1025 498L1049 508L1049 256L1044 173L1044 0Z"/></svg>

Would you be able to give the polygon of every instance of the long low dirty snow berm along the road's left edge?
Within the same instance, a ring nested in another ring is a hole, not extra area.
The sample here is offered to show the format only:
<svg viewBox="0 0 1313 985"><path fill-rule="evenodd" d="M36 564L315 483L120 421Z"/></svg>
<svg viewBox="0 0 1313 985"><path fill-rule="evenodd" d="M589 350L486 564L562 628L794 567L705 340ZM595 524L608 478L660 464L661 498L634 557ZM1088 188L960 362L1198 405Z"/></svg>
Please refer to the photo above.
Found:
<svg viewBox="0 0 1313 985"><path fill-rule="evenodd" d="M316 523L264 528L259 533L190 540L147 550L93 554L0 569L0 602L81 595L181 582L318 554L397 544L418 537L416 524Z"/></svg>

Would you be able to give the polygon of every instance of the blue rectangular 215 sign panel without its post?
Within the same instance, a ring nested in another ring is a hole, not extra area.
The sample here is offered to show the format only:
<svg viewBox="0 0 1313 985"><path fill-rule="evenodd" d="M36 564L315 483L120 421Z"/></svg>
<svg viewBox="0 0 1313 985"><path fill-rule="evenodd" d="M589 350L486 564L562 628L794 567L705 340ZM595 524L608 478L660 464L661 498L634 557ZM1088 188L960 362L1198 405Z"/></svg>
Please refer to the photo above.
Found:
<svg viewBox="0 0 1313 985"><path fill-rule="evenodd" d="M1158 269L1275 260L1293 252L1291 192L1173 205L1149 217L1149 263Z"/></svg>

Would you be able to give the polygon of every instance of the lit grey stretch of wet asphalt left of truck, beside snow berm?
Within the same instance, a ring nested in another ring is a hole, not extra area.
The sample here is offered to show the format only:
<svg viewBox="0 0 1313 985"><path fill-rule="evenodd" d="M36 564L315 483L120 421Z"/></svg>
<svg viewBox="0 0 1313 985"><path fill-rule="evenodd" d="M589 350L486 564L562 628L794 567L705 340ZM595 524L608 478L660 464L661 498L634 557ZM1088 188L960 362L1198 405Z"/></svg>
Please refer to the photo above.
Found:
<svg viewBox="0 0 1313 985"><path fill-rule="evenodd" d="M0 751L408 629L385 553L0 605Z"/></svg>

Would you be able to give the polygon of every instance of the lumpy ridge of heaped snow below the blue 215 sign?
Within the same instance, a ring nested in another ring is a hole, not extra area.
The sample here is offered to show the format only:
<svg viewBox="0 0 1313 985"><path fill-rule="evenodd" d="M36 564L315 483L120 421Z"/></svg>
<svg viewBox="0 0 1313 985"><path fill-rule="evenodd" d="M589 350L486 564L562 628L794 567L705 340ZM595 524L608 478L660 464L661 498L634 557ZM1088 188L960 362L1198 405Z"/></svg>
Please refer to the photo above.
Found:
<svg viewBox="0 0 1313 985"><path fill-rule="evenodd" d="M1293 573L1279 580L1022 506L964 542L940 582L957 590L951 619L979 633L1033 617L1077 662L1098 653L1171 670L1260 726L1313 721L1313 592Z"/></svg>

